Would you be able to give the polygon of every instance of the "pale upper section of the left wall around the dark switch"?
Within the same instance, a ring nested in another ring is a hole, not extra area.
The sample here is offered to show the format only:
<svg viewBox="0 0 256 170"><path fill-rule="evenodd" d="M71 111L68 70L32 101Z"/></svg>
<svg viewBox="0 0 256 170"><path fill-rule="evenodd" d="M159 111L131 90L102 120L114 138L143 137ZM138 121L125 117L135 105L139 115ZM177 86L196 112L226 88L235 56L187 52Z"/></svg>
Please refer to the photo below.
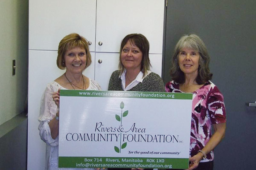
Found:
<svg viewBox="0 0 256 170"><path fill-rule="evenodd" d="M23 112L25 106L28 91L28 9L28 0L0 0L0 125ZM13 59L16 59L14 76Z"/></svg>

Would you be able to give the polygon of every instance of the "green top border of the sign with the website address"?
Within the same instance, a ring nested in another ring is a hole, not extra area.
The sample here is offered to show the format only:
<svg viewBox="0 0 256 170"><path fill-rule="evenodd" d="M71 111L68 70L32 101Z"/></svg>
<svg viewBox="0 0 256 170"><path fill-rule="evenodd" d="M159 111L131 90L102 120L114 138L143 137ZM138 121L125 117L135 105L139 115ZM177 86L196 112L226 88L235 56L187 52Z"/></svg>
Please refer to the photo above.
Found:
<svg viewBox="0 0 256 170"><path fill-rule="evenodd" d="M83 90L61 90L61 96L81 97L123 97L144 99L189 99L192 93L167 93L167 92L140 92L140 91L83 91Z"/></svg>

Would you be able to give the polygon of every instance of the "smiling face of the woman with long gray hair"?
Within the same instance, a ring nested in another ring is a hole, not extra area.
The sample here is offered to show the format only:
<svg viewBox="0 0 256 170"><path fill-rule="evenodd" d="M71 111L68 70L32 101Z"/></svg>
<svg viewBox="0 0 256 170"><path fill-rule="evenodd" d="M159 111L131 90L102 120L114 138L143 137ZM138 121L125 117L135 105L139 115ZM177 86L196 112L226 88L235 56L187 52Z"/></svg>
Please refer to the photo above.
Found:
<svg viewBox="0 0 256 170"><path fill-rule="evenodd" d="M191 48L182 48L178 54L178 64L185 76L197 76L200 54Z"/></svg>

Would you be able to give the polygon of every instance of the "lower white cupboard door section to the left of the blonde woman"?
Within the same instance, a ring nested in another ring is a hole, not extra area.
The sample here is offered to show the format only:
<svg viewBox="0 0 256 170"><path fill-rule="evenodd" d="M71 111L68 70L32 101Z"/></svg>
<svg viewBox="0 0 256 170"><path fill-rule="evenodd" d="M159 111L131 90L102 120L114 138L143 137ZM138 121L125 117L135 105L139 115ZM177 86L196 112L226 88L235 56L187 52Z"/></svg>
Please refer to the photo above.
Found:
<svg viewBox="0 0 256 170"><path fill-rule="evenodd" d="M39 136L38 116L47 83L64 73L57 67L56 58L57 51L29 50L28 170L44 170L45 167L46 144Z"/></svg>

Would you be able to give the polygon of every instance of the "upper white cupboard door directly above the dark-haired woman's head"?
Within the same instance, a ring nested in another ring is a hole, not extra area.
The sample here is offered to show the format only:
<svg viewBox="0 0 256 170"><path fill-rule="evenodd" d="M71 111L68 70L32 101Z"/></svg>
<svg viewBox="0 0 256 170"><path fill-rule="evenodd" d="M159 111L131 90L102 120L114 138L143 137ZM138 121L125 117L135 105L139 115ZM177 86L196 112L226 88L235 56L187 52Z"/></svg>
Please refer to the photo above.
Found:
<svg viewBox="0 0 256 170"><path fill-rule="evenodd" d="M97 0L96 52L119 52L127 34L140 33L149 53L162 54L164 8L164 0Z"/></svg>

